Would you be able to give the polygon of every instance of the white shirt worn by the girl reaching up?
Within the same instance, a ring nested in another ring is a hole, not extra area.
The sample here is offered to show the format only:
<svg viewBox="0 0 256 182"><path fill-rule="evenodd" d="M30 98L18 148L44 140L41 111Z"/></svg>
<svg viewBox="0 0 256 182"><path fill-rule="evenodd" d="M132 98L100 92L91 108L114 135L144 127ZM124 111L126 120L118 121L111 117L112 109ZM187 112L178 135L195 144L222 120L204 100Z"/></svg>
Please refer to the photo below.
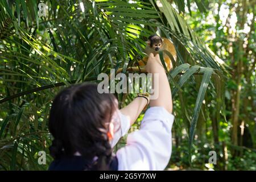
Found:
<svg viewBox="0 0 256 182"><path fill-rule="evenodd" d="M114 134L112 147L130 129L127 117L119 113L121 129ZM172 151L174 115L164 107L150 107L144 114L141 129L127 136L127 145L117 151L118 171L163 170Z"/></svg>

